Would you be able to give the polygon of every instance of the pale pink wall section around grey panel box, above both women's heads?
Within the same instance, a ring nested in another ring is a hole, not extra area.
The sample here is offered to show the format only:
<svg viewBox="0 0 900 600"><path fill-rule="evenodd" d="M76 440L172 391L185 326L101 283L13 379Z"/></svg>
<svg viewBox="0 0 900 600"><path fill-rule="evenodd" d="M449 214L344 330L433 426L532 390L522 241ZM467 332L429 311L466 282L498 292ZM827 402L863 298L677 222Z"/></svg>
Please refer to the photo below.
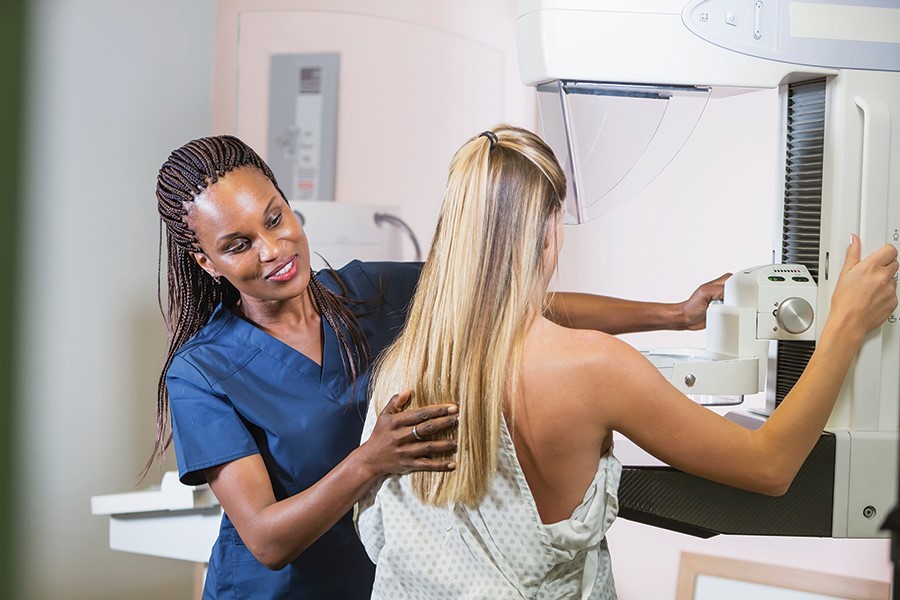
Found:
<svg viewBox="0 0 900 600"><path fill-rule="evenodd" d="M267 147L269 57L338 52L335 199L387 204L427 247L468 137L534 127L507 0L227 0L218 4L213 127Z"/></svg>

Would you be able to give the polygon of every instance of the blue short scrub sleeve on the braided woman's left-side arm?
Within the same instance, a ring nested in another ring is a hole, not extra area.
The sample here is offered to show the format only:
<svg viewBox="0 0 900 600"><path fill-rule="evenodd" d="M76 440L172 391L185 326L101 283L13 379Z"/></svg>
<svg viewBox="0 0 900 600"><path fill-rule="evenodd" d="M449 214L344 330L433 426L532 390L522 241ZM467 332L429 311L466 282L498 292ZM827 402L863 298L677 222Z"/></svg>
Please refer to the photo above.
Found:
<svg viewBox="0 0 900 600"><path fill-rule="evenodd" d="M214 392L203 373L181 355L166 373L178 476L206 483L204 469L259 454L259 447L228 398Z"/></svg>

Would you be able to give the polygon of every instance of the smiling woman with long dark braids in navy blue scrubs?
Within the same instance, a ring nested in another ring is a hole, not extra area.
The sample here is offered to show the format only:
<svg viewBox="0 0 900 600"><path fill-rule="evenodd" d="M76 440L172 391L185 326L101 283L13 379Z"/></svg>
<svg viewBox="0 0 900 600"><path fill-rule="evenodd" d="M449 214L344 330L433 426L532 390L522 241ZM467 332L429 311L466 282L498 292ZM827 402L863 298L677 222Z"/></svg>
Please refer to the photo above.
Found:
<svg viewBox="0 0 900 600"><path fill-rule="evenodd" d="M224 509L204 598L368 598L353 505L382 476L455 468L455 441L422 441L455 426L453 404L403 411L399 394L357 446L368 368L402 327L420 265L312 273L271 170L231 136L175 150L157 201L169 349L150 463L173 440L181 480L208 482ZM609 333L697 328L723 280L678 304L560 294L550 312Z"/></svg>

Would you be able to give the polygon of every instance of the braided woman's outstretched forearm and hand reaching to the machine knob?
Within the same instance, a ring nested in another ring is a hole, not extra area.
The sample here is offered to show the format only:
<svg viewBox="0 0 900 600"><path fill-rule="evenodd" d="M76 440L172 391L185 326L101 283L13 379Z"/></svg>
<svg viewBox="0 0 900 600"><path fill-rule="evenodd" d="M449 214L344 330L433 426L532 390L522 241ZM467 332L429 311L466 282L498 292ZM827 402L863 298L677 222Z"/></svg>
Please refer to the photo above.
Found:
<svg viewBox="0 0 900 600"><path fill-rule="evenodd" d="M641 331L698 330L706 327L706 307L721 300L726 273L698 287L684 302L637 302L609 296L559 292L549 298L544 314L563 327L593 329L611 335Z"/></svg>

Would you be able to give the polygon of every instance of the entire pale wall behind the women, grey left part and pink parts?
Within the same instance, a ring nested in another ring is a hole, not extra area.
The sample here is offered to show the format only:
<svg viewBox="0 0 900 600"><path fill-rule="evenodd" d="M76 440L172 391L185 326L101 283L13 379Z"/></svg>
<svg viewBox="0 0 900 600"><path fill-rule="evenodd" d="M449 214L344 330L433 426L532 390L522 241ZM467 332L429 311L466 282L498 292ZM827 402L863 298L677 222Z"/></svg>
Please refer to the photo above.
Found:
<svg viewBox="0 0 900 600"><path fill-rule="evenodd" d="M89 505L133 489L152 433L156 168L211 132L264 146L267 53L340 51L338 201L401 206L427 246L456 147L500 120L534 125L517 79L515 2L33 5L17 426L26 597L187 598L188 565L110 551ZM675 169L606 219L569 227L557 285L680 300L720 272L768 262L772 100L711 106ZM703 334L629 339L702 345ZM696 540L620 521L610 543L623 599L672 597L682 549L889 577L885 541Z"/></svg>

